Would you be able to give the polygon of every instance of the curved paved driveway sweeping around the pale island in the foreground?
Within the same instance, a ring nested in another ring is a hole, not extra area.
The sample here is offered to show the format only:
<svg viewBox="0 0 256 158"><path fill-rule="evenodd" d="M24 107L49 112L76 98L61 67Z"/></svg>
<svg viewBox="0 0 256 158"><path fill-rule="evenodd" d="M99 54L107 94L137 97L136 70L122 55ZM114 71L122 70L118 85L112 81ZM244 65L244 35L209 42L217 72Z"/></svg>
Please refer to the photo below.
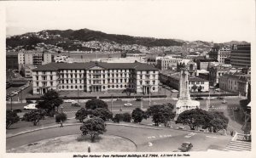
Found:
<svg viewBox="0 0 256 158"><path fill-rule="evenodd" d="M55 127L7 138L6 149L10 150L19 147L20 145L31 144L47 138L79 134L79 127L80 125L62 128ZM137 144L137 151L147 152L177 150L184 141L191 142L194 145L193 150L195 151L207 150L212 145L218 146L218 149L224 149L231 138L230 136L209 133L191 133L188 131L156 127L145 129L139 127L108 125L107 130L106 134L129 138Z"/></svg>

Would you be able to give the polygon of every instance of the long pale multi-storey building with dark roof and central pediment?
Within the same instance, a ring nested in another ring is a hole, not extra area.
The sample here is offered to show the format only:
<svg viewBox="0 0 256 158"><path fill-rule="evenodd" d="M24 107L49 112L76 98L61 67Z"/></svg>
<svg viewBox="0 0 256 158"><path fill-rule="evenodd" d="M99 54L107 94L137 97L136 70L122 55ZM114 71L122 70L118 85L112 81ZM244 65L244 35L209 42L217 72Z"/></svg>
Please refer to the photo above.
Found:
<svg viewBox="0 0 256 158"><path fill-rule="evenodd" d="M50 63L32 71L33 93L79 90L84 92L123 91L157 93L159 70L135 63Z"/></svg>

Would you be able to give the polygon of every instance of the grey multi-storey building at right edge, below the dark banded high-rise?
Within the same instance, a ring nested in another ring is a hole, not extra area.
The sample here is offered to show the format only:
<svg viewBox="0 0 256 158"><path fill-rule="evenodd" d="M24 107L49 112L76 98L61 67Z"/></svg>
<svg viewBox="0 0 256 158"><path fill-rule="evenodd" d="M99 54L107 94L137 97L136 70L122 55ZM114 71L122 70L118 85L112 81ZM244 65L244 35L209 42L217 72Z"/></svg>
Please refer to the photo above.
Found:
<svg viewBox="0 0 256 158"><path fill-rule="evenodd" d="M251 81L251 75L241 72L226 73L219 77L219 88L231 92L239 93L242 96L247 96L248 82Z"/></svg>

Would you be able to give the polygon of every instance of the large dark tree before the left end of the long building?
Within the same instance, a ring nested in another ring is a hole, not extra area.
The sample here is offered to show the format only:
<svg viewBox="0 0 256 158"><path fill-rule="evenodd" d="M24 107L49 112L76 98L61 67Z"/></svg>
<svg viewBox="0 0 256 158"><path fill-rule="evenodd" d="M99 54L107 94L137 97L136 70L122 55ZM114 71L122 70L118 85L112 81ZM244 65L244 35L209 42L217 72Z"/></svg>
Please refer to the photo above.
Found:
<svg viewBox="0 0 256 158"><path fill-rule="evenodd" d="M60 98L59 93L55 90L49 90L47 93L40 98L37 108L47 110L49 116L54 115L55 107L59 107L63 103L63 100Z"/></svg>

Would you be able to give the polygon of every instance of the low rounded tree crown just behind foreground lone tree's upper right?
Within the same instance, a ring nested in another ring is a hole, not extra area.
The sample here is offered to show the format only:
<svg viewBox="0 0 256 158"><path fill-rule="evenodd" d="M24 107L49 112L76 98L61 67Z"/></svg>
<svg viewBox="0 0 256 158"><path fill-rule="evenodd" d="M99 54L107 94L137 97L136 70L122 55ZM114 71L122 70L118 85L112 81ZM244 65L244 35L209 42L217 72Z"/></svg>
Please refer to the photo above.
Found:
<svg viewBox="0 0 256 158"><path fill-rule="evenodd" d="M108 121L113 118L113 113L106 108L97 108L96 110L91 110L91 116L100 117L103 121Z"/></svg>

